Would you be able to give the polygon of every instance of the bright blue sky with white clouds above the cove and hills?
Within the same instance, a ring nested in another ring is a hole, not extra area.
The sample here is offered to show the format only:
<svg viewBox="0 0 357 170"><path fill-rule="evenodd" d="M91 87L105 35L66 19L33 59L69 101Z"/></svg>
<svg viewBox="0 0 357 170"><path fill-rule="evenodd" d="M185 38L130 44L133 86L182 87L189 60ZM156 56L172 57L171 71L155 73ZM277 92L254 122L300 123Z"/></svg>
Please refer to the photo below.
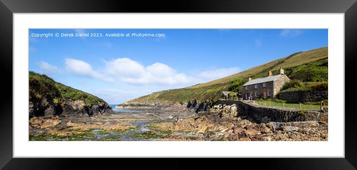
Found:
<svg viewBox="0 0 357 170"><path fill-rule="evenodd" d="M324 46L327 29L30 29L29 70L120 104Z"/></svg>

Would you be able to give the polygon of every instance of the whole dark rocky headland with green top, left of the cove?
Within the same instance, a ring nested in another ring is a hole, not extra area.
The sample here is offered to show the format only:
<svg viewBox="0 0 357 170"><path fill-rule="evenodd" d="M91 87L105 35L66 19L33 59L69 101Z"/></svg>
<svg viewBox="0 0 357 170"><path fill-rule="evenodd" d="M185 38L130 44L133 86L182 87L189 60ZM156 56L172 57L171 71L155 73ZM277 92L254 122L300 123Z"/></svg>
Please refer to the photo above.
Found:
<svg viewBox="0 0 357 170"><path fill-rule="evenodd" d="M29 72L29 117L98 116L113 112L104 100Z"/></svg>

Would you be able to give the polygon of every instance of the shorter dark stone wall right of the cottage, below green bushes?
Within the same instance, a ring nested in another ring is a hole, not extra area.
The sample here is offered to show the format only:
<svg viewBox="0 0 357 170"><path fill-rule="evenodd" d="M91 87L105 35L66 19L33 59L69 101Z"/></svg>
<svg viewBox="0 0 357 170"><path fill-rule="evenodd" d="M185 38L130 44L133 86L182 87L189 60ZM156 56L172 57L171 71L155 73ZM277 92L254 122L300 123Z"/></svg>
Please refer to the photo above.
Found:
<svg viewBox="0 0 357 170"><path fill-rule="evenodd" d="M328 91L288 91L280 92L279 99L286 102L319 102L328 99Z"/></svg>

